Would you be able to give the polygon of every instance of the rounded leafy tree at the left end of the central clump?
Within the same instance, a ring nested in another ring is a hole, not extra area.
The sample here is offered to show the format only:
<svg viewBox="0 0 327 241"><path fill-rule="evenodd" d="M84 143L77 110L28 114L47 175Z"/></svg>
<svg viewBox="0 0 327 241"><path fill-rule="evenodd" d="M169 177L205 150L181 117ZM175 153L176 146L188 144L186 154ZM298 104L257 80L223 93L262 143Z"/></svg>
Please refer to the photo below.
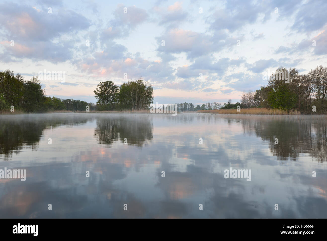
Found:
<svg viewBox="0 0 327 241"><path fill-rule="evenodd" d="M114 109L118 100L118 85L114 84L112 81L100 82L95 89L95 98L98 100L96 103L101 105L106 105L110 107L111 110Z"/></svg>

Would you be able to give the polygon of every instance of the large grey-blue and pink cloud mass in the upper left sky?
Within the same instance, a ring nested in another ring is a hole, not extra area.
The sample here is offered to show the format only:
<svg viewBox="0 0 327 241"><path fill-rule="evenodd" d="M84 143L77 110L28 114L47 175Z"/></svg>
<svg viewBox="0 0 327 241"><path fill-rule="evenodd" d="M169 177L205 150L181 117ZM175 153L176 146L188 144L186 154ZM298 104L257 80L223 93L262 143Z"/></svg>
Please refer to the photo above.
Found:
<svg viewBox="0 0 327 241"><path fill-rule="evenodd" d="M10 19L10 21L8 21ZM87 29L90 22L72 10L58 13L17 4L0 5L1 28L7 41L2 41L3 55L14 58L47 60L53 63L64 62L73 56L71 40L61 39L62 35ZM9 42L13 40L14 46Z"/></svg>

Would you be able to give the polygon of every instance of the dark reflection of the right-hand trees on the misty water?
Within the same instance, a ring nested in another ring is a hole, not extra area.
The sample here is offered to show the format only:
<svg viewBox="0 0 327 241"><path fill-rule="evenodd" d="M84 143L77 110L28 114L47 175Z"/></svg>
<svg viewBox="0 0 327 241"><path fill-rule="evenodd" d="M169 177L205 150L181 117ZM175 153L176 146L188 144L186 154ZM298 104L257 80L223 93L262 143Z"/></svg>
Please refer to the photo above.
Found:
<svg viewBox="0 0 327 241"><path fill-rule="evenodd" d="M320 162L326 161L327 119L324 116L245 116L235 121L242 123L244 133L254 131L269 141L269 149L278 160L296 160L301 153L308 153ZM276 138L278 144L275 144Z"/></svg>

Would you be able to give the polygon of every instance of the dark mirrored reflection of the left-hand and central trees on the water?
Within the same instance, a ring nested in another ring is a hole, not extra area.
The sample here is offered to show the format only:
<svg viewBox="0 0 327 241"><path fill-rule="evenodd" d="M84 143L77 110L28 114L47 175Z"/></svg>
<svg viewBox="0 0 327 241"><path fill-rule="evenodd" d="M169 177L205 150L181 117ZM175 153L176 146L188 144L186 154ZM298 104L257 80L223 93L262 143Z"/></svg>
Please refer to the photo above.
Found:
<svg viewBox="0 0 327 241"><path fill-rule="evenodd" d="M18 154L23 148L37 149L43 132L46 129L74 127L96 119L94 135L99 144L112 144L124 141L127 144L142 147L152 139L152 123L148 116L130 118L76 114L46 115L6 115L0 116L0 154L9 160L12 153ZM0 160L1 160L0 158Z"/></svg>

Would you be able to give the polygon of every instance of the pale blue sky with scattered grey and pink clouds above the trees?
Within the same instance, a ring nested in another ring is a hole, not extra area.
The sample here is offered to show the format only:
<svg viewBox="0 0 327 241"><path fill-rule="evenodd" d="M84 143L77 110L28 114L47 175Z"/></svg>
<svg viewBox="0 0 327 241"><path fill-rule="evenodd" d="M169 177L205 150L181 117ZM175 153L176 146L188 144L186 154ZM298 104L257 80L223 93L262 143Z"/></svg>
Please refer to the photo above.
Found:
<svg viewBox="0 0 327 241"><path fill-rule="evenodd" d="M327 66L326 0L3 1L0 71L47 96L96 102L100 81L142 77L159 104L240 101L279 66Z"/></svg>

